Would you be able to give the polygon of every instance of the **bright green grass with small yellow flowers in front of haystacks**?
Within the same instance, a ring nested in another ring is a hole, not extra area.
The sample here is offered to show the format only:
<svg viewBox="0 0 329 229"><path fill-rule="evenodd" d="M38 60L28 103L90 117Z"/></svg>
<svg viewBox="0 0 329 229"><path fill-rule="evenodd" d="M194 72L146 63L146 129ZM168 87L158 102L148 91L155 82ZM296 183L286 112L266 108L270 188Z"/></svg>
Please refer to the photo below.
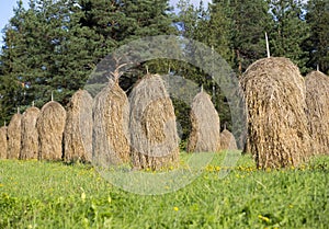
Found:
<svg viewBox="0 0 329 229"><path fill-rule="evenodd" d="M156 196L122 191L91 165L0 161L0 228L329 228L329 157L260 171L243 156L225 179L220 160Z"/></svg>

